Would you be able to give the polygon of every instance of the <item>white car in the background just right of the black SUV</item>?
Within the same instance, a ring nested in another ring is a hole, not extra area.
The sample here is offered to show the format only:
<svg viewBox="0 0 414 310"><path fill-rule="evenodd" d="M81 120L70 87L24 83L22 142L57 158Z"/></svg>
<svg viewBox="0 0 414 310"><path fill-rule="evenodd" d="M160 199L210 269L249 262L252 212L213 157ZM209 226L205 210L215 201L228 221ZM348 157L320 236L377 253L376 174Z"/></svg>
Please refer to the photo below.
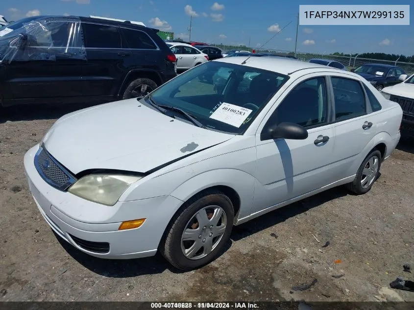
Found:
<svg viewBox="0 0 414 310"><path fill-rule="evenodd" d="M208 61L208 55L185 43L167 43L177 57L177 70L183 71Z"/></svg>

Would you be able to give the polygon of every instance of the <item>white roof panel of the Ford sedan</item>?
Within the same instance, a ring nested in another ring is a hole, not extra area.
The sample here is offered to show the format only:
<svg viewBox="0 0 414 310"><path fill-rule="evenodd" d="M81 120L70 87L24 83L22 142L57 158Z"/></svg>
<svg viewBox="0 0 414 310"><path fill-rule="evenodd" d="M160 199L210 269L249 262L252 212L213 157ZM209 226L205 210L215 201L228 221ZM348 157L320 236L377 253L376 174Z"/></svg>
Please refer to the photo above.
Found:
<svg viewBox="0 0 414 310"><path fill-rule="evenodd" d="M247 60L248 56L241 56L241 57L224 57L215 60L216 62L226 62L236 65L242 65L244 60ZM316 72L338 72L344 73L341 69L336 69L332 67L327 67L324 65L313 64L304 61L297 61L296 59L287 58L287 57L273 57L273 56L263 56L263 57L251 57L247 60L244 66L273 71L281 74L289 75L293 72L305 70L305 69L313 69ZM350 74L356 77L359 77L358 74L352 72L346 72L346 74Z"/></svg>

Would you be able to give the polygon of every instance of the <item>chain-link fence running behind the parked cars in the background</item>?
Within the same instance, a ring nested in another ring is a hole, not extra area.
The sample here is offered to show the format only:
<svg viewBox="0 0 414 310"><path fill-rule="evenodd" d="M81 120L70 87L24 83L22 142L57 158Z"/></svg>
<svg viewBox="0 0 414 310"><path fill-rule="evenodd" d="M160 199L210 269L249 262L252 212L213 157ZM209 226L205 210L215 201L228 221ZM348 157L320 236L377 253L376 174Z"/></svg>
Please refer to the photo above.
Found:
<svg viewBox="0 0 414 310"><path fill-rule="evenodd" d="M252 51L255 48L248 48L246 46L231 46L231 45L222 45L222 44L211 44L212 46L218 47L223 52L237 49L237 50L246 50ZM290 50L280 50L280 49L255 49L256 52L270 52L274 54L282 54L282 55L291 55L294 56L294 52ZM359 58L358 55L353 56L338 56L338 55L329 55L329 54L313 54L313 53L305 53L305 52L297 52L296 57L302 61L309 61L312 58L320 58L320 59L330 59L340 62L342 65L347 67L348 69L356 69L365 64L383 64L383 65L392 65L397 66L403 69L408 75L414 73L414 63L408 62L400 62L400 61L389 61L389 60L379 60L379 59L372 59L372 58Z"/></svg>

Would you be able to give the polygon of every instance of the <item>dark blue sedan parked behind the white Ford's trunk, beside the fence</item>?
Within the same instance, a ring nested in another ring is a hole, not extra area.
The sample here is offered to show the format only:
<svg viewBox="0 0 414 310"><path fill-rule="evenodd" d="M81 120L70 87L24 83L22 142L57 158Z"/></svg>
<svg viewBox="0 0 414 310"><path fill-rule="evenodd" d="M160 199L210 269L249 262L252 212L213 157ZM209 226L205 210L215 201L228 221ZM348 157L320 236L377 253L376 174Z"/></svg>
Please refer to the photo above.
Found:
<svg viewBox="0 0 414 310"><path fill-rule="evenodd" d="M401 83L407 77L400 67L383 64L365 64L352 71L364 77L379 91Z"/></svg>

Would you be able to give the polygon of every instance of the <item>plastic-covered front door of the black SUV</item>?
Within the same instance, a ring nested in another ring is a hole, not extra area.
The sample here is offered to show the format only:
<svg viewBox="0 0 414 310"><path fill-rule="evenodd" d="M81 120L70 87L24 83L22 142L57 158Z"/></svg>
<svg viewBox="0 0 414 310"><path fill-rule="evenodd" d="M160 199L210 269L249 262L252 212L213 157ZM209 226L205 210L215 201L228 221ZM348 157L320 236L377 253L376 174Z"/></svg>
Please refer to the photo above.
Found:
<svg viewBox="0 0 414 310"><path fill-rule="evenodd" d="M82 95L85 50L79 26L78 21L51 21L27 34L7 68L12 99Z"/></svg>

